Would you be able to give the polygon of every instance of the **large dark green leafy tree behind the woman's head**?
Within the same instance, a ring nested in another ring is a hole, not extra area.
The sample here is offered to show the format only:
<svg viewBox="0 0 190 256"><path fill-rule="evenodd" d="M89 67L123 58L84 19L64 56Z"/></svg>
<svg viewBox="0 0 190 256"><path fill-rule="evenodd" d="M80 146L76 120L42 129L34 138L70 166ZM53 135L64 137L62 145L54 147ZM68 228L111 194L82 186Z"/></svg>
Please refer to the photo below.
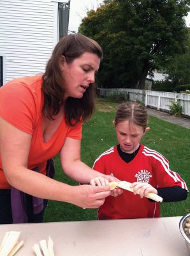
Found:
<svg viewBox="0 0 190 256"><path fill-rule="evenodd" d="M103 48L103 85L144 88L147 72L184 52L189 6L189 0L106 0L88 12L79 32Z"/></svg>

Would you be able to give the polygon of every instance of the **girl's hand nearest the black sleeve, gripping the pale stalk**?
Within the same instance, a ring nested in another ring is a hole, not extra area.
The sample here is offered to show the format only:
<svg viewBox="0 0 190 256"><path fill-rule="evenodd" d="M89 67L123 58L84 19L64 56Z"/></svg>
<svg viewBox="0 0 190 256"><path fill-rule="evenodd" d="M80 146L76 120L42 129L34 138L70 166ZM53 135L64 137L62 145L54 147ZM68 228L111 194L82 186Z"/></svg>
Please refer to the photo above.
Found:
<svg viewBox="0 0 190 256"><path fill-rule="evenodd" d="M136 195L138 192L140 198L143 198L143 196L147 196L150 192L157 195L156 188L153 188L149 183L146 182L133 182L131 184L131 188L133 188L134 195Z"/></svg>

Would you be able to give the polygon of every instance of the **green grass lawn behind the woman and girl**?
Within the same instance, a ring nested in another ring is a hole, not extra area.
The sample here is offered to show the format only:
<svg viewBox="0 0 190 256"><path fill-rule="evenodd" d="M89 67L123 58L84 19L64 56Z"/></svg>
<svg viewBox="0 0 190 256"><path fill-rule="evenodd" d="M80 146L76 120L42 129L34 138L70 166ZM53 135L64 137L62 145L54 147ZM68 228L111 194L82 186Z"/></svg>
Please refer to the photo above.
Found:
<svg viewBox="0 0 190 256"><path fill-rule="evenodd" d="M92 166L94 160L103 151L117 144L112 120L117 104L97 100L96 112L91 120L83 126L81 157L84 163ZM179 173L190 188L189 179L189 146L190 129L180 127L149 116L150 131L145 134L142 143L157 150L170 161L171 170ZM55 179L73 186L77 182L69 179L61 169L59 156L55 157ZM96 220L96 209L80 209L64 202L48 202L45 221L78 221ZM161 216L182 216L190 212L189 196L187 200L161 204Z"/></svg>

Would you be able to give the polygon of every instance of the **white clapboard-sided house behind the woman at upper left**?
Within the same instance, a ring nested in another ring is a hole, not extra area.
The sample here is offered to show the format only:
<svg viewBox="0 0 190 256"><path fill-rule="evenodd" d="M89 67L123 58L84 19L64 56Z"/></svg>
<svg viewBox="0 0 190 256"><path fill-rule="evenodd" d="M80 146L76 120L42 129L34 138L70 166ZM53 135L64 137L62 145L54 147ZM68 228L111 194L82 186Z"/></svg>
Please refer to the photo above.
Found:
<svg viewBox="0 0 190 256"><path fill-rule="evenodd" d="M0 1L0 86L43 73L54 46L68 33L70 1Z"/></svg>

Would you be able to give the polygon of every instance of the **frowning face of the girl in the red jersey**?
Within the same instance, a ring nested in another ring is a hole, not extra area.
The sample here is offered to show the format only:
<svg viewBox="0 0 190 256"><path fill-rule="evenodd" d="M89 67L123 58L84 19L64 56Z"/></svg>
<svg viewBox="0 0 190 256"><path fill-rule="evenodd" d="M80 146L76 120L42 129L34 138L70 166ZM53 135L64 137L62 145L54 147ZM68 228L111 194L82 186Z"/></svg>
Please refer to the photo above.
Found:
<svg viewBox="0 0 190 256"><path fill-rule="evenodd" d="M129 120L119 122L115 126L115 131L121 150L126 153L133 153L139 147L140 140L145 134L142 126L129 123Z"/></svg>

